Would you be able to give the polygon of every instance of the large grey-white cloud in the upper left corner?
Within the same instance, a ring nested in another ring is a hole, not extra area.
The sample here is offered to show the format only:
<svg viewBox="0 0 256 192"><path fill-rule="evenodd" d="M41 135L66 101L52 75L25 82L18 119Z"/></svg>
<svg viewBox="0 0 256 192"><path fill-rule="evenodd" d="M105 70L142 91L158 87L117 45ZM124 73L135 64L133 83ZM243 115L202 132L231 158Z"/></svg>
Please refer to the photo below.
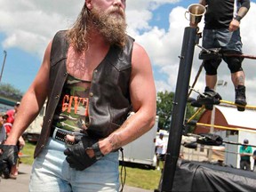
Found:
<svg viewBox="0 0 256 192"><path fill-rule="evenodd" d="M42 57L57 30L68 28L76 20L83 1L0 0L0 32L5 48L18 47Z"/></svg>

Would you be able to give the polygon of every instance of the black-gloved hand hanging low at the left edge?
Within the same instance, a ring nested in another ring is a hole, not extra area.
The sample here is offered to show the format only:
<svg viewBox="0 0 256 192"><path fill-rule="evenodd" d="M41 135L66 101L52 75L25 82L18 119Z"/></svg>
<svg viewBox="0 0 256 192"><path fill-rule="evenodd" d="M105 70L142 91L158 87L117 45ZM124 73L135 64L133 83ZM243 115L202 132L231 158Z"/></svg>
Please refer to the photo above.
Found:
<svg viewBox="0 0 256 192"><path fill-rule="evenodd" d="M16 145L0 145L0 149L2 149L0 161L6 161L10 165L17 164L19 156Z"/></svg>

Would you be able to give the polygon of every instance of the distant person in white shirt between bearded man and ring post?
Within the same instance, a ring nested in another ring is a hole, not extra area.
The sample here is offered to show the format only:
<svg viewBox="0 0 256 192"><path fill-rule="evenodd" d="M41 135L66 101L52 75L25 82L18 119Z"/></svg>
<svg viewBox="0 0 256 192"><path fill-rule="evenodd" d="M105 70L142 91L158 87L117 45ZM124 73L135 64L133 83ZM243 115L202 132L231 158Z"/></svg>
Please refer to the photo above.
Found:
<svg viewBox="0 0 256 192"><path fill-rule="evenodd" d="M160 170L160 161L164 163L167 144L164 140L164 133L160 132L159 137L156 139L156 166Z"/></svg>

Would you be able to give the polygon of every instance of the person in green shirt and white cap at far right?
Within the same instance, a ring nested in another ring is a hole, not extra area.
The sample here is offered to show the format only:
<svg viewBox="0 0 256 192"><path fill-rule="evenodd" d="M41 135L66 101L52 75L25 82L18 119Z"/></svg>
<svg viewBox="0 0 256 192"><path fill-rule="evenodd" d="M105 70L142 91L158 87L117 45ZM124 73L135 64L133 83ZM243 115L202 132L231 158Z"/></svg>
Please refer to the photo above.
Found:
<svg viewBox="0 0 256 192"><path fill-rule="evenodd" d="M244 145L240 147L240 169L251 171L252 147L248 146L249 140L244 139Z"/></svg>

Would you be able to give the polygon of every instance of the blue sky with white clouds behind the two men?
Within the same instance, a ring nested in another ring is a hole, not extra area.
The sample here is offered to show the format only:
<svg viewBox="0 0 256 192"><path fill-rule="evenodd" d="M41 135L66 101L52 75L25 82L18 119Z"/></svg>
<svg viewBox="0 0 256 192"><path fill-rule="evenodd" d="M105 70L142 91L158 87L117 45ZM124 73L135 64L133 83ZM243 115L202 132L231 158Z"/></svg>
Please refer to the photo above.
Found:
<svg viewBox="0 0 256 192"><path fill-rule="evenodd" d="M152 62L157 91L175 91L180 60L184 28L188 20L184 14L194 0L127 0L128 34L143 45ZM244 52L253 54L256 50L255 12L256 1L252 1L251 10L241 23L241 34ZM28 90L36 72L41 65L44 49L55 32L68 28L84 1L69 0L0 0L0 67L7 52L4 73L1 83L9 83L22 92ZM68 11L67 11L68 10ZM204 22L199 25L200 30ZM191 73L194 81L201 60L198 60L200 49L195 48L195 56ZM246 60L247 100L256 103L255 71L253 60ZM253 68L253 70L252 70ZM220 94L226 100L234 100L234 87L230 81L227 66L221 65L220 77L228 82L228 86L220 88ZM196 89L204 91L204 72L200 75ZM226 92L226 90L230 92ZM195 95L196 96L196 95ZM251 104L249 103L249 104Z"/></svg>

